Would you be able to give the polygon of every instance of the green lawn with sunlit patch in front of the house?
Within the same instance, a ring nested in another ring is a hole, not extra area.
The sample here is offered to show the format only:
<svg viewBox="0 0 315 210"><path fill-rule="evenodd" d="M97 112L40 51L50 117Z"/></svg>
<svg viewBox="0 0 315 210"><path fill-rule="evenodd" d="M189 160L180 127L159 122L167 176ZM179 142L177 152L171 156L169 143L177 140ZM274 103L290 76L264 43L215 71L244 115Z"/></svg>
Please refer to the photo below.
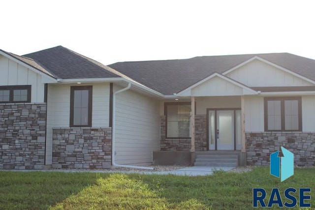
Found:
<svg viewBox="0 0 315 210"><path fill-rule="evenodd" d="M278 187L285 202L284 189L312 188L314 174L315 168L299 168L281 182L269 175L268 167L242 174L218 171L206 177L2 171L0 209L247 210L252 209L253 187L264 188L268 198ZM307 203L315 207L315 199Z"/></svg>

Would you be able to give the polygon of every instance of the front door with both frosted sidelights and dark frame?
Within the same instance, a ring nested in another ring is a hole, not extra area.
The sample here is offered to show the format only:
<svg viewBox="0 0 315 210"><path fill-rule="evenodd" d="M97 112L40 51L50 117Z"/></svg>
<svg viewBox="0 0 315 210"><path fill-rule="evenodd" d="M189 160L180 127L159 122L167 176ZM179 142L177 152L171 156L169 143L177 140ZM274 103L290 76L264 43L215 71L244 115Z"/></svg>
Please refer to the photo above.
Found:
<svg viewBox="0 0 315 210"><path fill-rule="evenodd" d="M208 110L209 150L239 150L240 110Z"/></svg>

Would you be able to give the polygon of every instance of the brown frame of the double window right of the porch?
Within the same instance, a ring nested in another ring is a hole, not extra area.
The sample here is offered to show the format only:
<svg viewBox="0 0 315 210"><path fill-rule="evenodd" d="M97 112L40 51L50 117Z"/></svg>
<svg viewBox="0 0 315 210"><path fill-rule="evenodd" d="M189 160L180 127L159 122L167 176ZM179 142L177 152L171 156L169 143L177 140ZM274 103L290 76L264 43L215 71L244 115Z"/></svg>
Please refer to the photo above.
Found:
<svg viewBox="0 0 315 210"><path fill-rule="evenodd" d="M281 130L268 130L268 101L281 101ZM299 128L297 130L285 130L285 120L284 120L284 101L286 100L297 100L298 101L298 123ZM275 132L292 132L292 131L302 131L302 97L265 97L264 98L264 126L265 131L275 131Z"/></svg>

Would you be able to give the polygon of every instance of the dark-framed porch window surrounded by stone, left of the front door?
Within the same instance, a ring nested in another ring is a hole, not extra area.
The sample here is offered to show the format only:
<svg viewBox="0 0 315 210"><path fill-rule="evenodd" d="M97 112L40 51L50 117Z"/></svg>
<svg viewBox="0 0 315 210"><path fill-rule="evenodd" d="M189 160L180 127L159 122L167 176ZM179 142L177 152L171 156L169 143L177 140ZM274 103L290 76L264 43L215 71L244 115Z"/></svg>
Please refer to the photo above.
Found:
<svg viewBox="0 0 315 210"><path fill-rule="evenodd" d="M190 102L164 103L166 138L190 138Z"/></svg>

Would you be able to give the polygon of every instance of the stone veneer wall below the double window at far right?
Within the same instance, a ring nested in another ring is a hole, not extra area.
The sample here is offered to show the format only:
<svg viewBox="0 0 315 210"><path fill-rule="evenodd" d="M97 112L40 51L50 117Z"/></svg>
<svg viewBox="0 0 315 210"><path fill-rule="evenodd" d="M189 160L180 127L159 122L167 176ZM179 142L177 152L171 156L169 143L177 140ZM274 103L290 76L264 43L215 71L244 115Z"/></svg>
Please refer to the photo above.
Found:
<svg viewBox="0 0 315 210"><path fill-rule="evenodd" d="M294 165L315 166L315 133L246 133L248 165L269 165L269 155L283 146L294 153Z"/></svg>

